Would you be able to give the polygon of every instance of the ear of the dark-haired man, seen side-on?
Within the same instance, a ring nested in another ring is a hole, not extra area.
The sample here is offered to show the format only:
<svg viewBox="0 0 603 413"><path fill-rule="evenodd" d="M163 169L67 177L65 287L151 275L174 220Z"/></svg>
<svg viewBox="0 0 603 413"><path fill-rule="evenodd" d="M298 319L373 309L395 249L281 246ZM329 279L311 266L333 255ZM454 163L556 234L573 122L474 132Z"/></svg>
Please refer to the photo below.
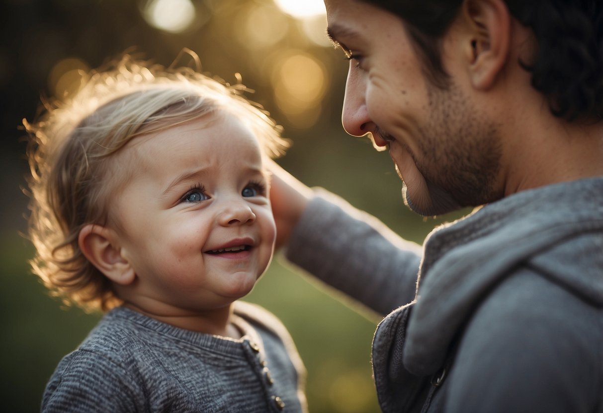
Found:
<svg viewBox="0 0 603 413"><path fill-rule="evenodd" d="M487 90L504 69L510 54L511 15L504 0L466 0L464 37L473 87Z"/></svg>

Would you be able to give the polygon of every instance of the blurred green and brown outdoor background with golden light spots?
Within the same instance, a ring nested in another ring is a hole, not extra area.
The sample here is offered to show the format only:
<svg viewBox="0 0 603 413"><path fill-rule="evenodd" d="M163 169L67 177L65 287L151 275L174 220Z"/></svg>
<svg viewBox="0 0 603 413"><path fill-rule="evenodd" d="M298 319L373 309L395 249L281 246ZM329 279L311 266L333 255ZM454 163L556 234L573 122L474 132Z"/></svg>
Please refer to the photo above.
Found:
<svg viewBox="0 0 603 413"><path fill-rule="evenodd" d="M0 1L0 385L9 412L39 411L46 380L98 314L65 308L28 269L27 161L22 119L40 98L73 93L82 73L124 51L169 65L183 48L203 70L255 90L292 140L279 160L421 243L441 222L409 212L386 153L341 127L347 73L324 35L322 0ZM377 412L370 349L376 315L313 281L282 257L246 297L279 316L308 368L311 412Z"/></svg>

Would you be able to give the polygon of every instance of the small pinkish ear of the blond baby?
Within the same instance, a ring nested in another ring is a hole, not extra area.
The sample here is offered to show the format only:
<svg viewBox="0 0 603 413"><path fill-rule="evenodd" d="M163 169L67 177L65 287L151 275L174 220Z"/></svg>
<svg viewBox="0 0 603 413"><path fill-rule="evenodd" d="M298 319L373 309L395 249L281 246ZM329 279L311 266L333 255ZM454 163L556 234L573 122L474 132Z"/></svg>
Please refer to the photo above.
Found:
<svg viewBox="0 0 603 413"><path fill-rule="evenodd" d="M119 237L113 229L88 224L80 230L78 244L88 261L117 284L131 284L136 273L121 254Z"/></svg>

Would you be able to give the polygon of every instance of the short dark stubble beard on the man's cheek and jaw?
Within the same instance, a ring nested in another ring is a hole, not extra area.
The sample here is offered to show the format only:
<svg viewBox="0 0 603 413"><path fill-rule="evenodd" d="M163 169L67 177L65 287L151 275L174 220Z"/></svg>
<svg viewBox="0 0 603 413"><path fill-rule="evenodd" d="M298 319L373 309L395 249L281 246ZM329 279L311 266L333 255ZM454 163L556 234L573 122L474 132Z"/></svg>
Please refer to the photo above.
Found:
<svg viewBox="0 0 603 413"><path fill-rule="evenodd" d="M497 188L502 142L496 123L454 84L442 89L426 83L429 123L418 128L417 140L423 157L418 159L410 151L409 155L425 178L431 205L413 202L412 188L405 185L406 204L415 213L435 216L500 199L504 196Z"/></svg>

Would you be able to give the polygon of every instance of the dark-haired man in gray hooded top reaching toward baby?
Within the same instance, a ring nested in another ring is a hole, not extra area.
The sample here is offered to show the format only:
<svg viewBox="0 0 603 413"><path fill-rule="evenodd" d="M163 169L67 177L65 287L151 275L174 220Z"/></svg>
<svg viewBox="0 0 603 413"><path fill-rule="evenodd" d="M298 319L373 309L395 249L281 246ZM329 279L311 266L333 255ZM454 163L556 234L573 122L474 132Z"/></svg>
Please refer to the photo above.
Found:
<svg viewBox="0 0 603 413"><path fill-rule="evenodd" d="M276 177L288 258L384 315L402 305L373 341L381 408L603 412L601 2L325 4L346 131L389 149L417 213L487 204L420 253Z"/></svg>

